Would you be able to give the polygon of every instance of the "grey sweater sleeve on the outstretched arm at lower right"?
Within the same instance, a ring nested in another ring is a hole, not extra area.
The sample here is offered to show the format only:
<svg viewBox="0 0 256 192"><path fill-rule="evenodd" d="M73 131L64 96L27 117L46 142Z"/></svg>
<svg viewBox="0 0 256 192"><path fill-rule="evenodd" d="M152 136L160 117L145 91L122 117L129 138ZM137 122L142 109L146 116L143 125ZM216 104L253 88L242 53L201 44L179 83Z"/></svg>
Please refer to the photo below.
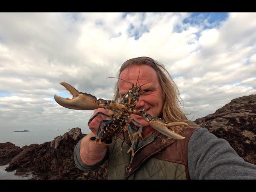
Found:
<svg viewBox="0 0 256 192"><path fill-rule="evenodd" d="M188 171L191 179L256 179L256 165L245 162L226 140L206 128L190 137Z"/></svg>

